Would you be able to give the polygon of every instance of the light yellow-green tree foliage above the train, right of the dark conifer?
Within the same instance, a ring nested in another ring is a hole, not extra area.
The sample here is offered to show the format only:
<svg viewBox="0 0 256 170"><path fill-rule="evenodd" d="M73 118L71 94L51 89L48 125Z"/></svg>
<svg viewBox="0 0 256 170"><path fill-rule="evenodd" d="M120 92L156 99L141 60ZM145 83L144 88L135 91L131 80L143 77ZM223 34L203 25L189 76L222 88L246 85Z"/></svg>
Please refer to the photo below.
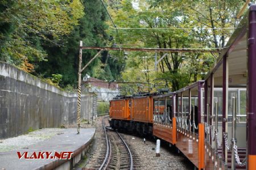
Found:
<svg viewBox="0 0 256 170"><path fill-rule="evenodd" d="M222 28L237 27L239 20L235 16L243 4L238 0L126 0L109 1L109 8L117 27L154 28L118 29L121 40L125 42L123 44L127 44L122 47L223 48L234 29ZM115 43L118 40L116 31L109 29L109 34L113 35L112 43ZM158 53L158 59L163 54ZM126 69L122 72L123 80L133 81L139 77L151 83L155 78L167 78L171 82L172 91L203 79L216 59L216 56L207 53L172 52L159 62L158 71L154 71L154 54L130 52L129 57L133 59L126 62Z"/></svg>

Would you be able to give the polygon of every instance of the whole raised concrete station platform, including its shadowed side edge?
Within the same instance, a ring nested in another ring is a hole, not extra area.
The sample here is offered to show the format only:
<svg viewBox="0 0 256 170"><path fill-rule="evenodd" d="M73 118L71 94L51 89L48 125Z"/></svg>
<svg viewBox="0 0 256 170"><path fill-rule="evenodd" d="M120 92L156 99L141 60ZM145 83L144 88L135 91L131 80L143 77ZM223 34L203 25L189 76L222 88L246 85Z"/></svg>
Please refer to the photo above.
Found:
<svg viewBox="0 0 256 170"><path fill-rule="evenodd" d="M71 169L86 154L94 134L95 128L82 128L80 134L77 134L75 128L54 128L39 129L18 137L2 139L0 170ZM71 152L73 154L69 154ZM19 159L19 156L22 157ZM65 159L69 156L71 159Z"/></svg>

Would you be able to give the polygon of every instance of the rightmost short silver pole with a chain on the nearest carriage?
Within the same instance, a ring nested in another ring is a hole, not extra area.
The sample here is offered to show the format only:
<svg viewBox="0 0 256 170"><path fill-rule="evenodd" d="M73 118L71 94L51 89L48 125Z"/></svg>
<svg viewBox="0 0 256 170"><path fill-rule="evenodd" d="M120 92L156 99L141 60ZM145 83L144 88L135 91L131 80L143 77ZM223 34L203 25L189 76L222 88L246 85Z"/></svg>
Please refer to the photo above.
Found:
<svg viewBox="0 0 256 170"><path fill-rule="evenodd" d="M234 155L234 142L237 143L237 139L236 139L236 126L237 126L237 122L236 122L236 118L237 118L237 105L236 105L236 97L232 97L232 156L231 156L231 169L236 169L236 160L235 160L235 155Z"/></svg>

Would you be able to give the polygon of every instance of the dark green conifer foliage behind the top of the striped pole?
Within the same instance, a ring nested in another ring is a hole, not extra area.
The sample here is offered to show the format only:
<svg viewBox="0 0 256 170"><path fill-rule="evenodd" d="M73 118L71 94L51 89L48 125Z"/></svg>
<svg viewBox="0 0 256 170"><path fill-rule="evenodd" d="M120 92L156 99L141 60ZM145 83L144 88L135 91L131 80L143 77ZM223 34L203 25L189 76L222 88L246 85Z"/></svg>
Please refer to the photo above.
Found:
<svg viewBox="0 0 256 170"><path fill-rule="evenodd" d="M108 41L108 34L105 30L108 25L105 21L108 19L106 11L100 0L84 1L85 15L79 20L79 25L76 25L72 32L65 36L63 45L49 45L43 43L43 48L48 54L48 61L36 63L36 74L43 74L44 77L49 77L52 74L59 73L63 75L60 86L65 88L68 84L73 87L77 85L77 71L79 61L79 41L82 40L84 46L105 46ZM96 50L83 50L82 66L97 53ZM92 77L113 80L119 76L120 63L114 62L112 57L109 57L107 52L97 57L90 65L82 72L82 76L89 74Z"/></svg>

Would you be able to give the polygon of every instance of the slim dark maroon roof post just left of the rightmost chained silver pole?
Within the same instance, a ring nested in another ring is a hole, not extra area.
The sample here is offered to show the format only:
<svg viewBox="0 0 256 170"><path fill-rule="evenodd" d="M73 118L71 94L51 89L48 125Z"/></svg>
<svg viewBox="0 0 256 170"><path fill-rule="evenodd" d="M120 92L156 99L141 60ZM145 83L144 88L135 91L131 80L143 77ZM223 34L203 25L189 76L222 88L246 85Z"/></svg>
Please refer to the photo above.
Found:
<svg viewBox="0 0 256 170"><path fill-rule="evenodd" d="M224 133L228 131L228 90L229 90L229 66L228 66L228 56L223 57L223 79L222 79L222 159L225 165L228 164L228 151L225 147Z"/></svg>

